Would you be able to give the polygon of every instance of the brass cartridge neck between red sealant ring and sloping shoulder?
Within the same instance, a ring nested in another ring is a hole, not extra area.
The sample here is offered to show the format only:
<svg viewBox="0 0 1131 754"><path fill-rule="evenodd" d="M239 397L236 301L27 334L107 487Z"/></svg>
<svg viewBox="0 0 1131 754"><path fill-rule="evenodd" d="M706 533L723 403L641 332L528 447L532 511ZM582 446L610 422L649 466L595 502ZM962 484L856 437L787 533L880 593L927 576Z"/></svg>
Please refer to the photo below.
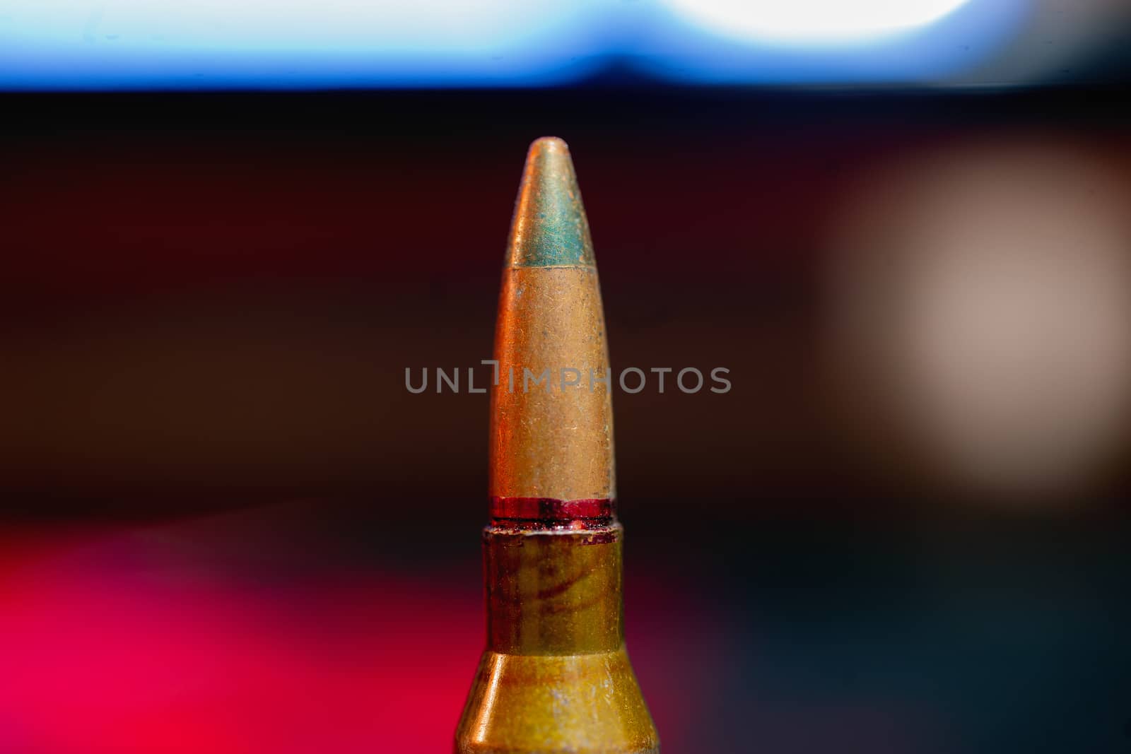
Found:
<svg viewBox="0 0 1131 754"><path fill-rule="evenodd" d="M483 531L487 649L510 655L620 649L622 534L611 506L596 519L493 518Z"/></svg>

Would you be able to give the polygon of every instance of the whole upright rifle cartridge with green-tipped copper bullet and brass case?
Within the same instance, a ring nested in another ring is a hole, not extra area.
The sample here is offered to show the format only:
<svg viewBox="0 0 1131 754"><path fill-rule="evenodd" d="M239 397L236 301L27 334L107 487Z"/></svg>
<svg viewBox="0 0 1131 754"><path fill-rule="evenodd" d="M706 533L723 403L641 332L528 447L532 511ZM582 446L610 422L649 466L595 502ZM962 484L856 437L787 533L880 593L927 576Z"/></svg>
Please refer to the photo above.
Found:
<svg viewBox="0 0 1131 754"><path fill-rule="evenodd" d="M566 142L530 145L499 296L486 649L457 754L646 754L624 649L613 407L589 224Z"/></svg>

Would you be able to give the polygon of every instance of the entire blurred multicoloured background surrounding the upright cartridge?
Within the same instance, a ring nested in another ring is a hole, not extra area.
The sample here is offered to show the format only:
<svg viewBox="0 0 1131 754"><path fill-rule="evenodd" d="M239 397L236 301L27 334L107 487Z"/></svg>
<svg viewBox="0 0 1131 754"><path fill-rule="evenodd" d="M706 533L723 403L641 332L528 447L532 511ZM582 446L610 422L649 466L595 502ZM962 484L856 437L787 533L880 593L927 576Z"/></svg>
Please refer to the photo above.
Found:
<svg viewBox="0 0 1131 754"><path fill-rule="evenodd" d="M0 7L0 751L450 749L543 135L664 751L1131 747L1125 3L162 5Z"/></svg>

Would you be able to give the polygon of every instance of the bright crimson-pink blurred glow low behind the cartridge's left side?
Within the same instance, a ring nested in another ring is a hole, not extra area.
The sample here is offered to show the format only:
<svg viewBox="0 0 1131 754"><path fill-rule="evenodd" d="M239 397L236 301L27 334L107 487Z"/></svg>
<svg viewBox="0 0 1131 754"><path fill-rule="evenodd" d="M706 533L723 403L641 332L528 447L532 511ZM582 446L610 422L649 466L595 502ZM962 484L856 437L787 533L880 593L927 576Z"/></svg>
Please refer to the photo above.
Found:
<svg viewBox="0 0 1131 754"><path fill-rule="evenodd" d="M153 532L9 539L0 751L449 751L483 645L478 574L233 574ZM638 673L677 739L691 711L654 671L674 638L637 629Z"/></svg>

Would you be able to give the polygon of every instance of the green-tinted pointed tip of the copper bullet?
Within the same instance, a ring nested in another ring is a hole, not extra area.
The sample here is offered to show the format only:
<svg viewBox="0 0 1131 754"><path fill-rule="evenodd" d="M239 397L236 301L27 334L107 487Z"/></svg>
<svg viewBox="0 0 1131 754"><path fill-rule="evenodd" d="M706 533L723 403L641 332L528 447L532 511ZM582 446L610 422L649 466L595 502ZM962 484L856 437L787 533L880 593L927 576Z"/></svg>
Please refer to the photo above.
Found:
<svg viewBox="0 0 1131 754"><path fill-rule="evenodd" d="M573 161L556 137L536 139L526 155L506 266L594 267Z"/></svg>

